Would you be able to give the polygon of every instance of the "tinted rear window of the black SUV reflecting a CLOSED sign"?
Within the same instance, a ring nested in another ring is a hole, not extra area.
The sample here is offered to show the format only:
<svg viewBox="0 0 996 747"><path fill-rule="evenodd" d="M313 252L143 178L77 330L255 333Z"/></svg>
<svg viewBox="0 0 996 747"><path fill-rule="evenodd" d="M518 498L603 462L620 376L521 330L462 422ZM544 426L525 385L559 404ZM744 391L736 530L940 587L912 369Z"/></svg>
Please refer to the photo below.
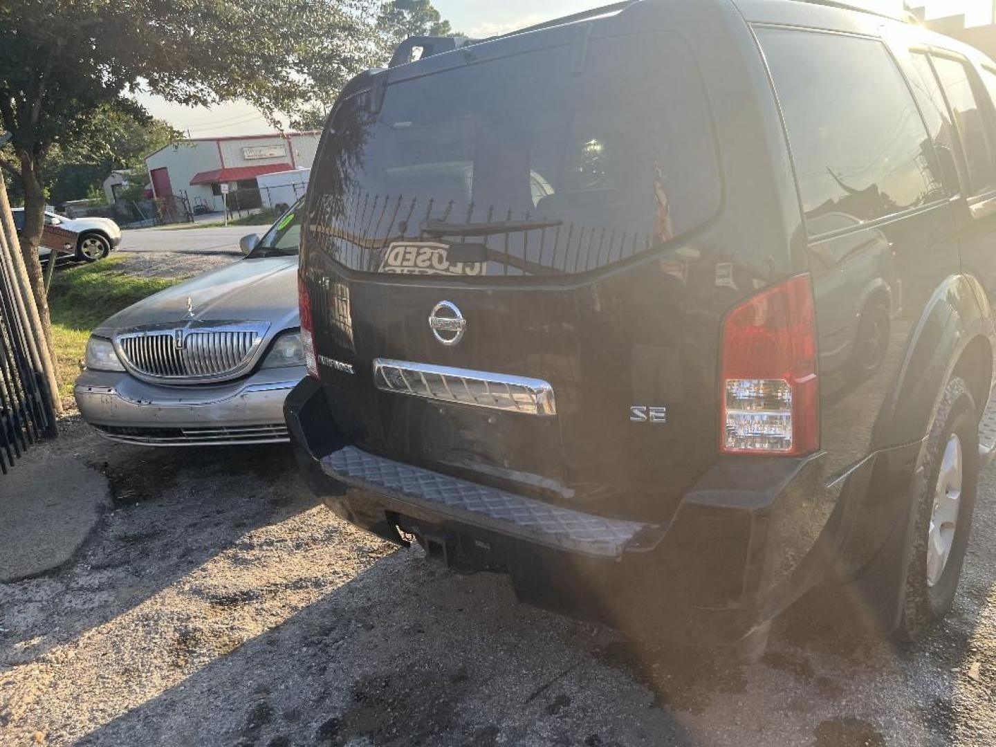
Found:
<svg viewBox="0 0 996 747"><path fill-rule="evenodd" d="M306 246L348 267L543 275L604 267L720 201L696 66L666 34L462 66L344 102L311 188ZM454 249L454 245L460 248Z"/></svg>

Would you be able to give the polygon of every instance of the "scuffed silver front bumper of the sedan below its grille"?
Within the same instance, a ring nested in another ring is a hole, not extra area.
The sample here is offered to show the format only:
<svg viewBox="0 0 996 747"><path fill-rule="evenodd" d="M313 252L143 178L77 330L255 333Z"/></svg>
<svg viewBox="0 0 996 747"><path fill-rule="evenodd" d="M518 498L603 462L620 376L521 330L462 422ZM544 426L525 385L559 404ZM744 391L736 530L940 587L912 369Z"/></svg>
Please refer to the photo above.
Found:
<svg viewBox="0 0 996 747"><path fill-rule="evenodd" d="M162 386L127 373L85 371L74 394L83 419L116 441L155 446L288 440L284 399L304 367L267 369L222 384Z"/></svg>

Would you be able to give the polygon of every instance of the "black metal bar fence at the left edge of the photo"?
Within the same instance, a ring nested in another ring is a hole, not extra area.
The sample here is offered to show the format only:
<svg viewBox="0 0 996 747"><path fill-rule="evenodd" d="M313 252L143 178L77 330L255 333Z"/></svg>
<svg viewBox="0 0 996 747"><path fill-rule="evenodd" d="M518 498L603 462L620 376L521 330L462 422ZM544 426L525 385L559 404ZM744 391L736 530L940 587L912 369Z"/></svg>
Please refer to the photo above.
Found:
<svg viewBox="0 0 996 747"><path fill-rule="evenodd" d="M0 229L2 230L2 229ZM0 255L2 255L0 248ZM6 260L0 256L0 259ZM29 330L18 308L20 290L11 264L0 261L0 472L42 436L52 435L55 416L43 374L32 364ZM45 345L45 341L37 341Z"/></svg>

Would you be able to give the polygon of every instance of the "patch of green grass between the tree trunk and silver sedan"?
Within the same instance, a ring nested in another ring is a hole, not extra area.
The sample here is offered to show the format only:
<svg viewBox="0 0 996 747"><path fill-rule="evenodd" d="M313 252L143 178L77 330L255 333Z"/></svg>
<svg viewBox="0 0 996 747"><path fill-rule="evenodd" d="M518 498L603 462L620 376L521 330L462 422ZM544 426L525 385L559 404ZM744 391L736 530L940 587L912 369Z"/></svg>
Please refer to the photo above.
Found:
<svg viewBox="0 0 996 747"><path fill-rule="evenodd" d="M73 393L90 333L112 314L180 282L140 278L124 272L123 257L108 257L56 273L49 291L52 340L64 396Z"/></svg>

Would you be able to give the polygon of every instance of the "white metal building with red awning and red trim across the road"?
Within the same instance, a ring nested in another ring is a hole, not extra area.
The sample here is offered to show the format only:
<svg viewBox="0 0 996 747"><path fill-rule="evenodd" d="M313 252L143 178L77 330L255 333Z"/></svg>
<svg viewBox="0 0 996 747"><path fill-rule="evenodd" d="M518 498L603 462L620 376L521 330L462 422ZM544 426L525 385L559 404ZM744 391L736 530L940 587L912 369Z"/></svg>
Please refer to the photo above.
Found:
<svg viewBox="0 0 996 747"><path fill-rule="evenodd" d="M191 208L220 211L221 185L228 184L232 192L253 190L239 200L251 207L260 197L256 177L311 168L320 136L316 130L177 140L146 156L145 165L156 197L185 196Z"/></svg>

